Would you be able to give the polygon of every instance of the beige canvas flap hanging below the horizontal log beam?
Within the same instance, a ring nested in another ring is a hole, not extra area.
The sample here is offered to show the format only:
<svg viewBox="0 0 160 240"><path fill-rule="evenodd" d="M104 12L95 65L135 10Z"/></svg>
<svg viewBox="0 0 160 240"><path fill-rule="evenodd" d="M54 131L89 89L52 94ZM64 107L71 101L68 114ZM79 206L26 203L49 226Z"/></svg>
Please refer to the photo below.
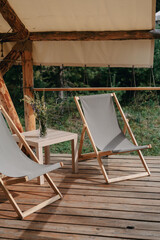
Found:
<svg viewBox="0 0 160 240"><path fill-rule="evenodd" d="M153 40L33 42L35 65L150 67L153 54Z"/></svg>

